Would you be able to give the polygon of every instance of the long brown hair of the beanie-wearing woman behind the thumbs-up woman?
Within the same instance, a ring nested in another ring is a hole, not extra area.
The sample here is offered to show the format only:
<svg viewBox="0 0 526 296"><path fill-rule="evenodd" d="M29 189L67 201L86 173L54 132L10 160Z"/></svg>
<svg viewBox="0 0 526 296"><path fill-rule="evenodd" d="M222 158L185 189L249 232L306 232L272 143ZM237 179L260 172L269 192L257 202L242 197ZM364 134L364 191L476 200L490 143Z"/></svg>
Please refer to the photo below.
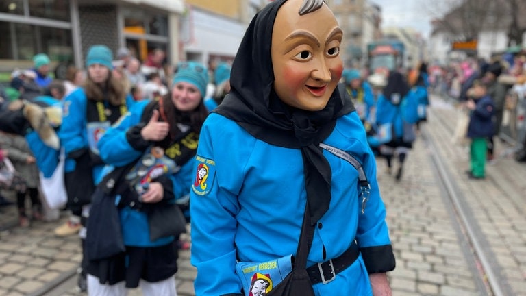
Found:
<svg viewBox="0 0 526 296"><path fill-rule="evenodd" d="M104 88L108 90L106 96ZM93 82L88 75L84 80L84 92L86 93L86 97L90 100L104 101L106 99L108 103L113 106L120 106L125 103L126 100L124 84L113 77L111 70L108 79L103 82L102 85Z"/></svg>

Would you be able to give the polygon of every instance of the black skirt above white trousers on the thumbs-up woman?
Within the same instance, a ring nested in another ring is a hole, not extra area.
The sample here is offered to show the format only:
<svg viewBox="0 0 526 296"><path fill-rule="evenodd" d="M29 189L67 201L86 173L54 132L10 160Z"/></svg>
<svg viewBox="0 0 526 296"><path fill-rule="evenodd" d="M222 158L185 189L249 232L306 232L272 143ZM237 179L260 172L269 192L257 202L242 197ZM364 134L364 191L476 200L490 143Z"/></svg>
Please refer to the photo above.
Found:
<svg viewBox="0 0 526 296"><path fill-rule="evenodd" d="M113 285L125 281L126 288L137 288L139 280L160 282L177 272L177 245L160 247L126 247L126 251L111 258L88 262L88 273L101 284Z"/></svg>

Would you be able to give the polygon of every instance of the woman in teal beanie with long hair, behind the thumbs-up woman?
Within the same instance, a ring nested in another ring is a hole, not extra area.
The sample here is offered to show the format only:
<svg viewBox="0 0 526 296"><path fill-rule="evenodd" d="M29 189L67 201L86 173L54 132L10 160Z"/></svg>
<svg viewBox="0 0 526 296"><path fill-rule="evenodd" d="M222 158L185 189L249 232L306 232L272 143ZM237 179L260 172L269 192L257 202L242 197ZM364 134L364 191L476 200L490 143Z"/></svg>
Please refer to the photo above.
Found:
<svg viewBox="0 0 526 296"><path fill-rule="evenodd" d="M64 99L58 133L66 152L64 178L67 206L72 215L66 224L55 228L55 235L69 236L80 232L83 250L86 237L83 226L86 225L91 195L105 165L99 156L97 141L133 104L123 84L112 75L112 60L112 51L105 45L93 45L88 49L88 75L84 85ZM78 282L81 291L86 290L86 264L83 256Z"/></svg>

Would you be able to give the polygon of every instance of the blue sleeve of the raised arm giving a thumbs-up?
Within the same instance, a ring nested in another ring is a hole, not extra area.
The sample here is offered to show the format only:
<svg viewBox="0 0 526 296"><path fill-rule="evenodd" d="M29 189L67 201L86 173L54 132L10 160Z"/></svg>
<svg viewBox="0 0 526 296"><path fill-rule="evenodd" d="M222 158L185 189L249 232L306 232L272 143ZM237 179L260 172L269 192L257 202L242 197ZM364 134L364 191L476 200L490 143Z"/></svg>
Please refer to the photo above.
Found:
<svg viewBox="0 0 526 296"><path fill-rule="evenodd" d="M128 141L127 132L140 124L147 101L136 103L132 109L108 129L97 142L97 148L106 164L121 167L136 160L143 151L134 149Z"/></svg>

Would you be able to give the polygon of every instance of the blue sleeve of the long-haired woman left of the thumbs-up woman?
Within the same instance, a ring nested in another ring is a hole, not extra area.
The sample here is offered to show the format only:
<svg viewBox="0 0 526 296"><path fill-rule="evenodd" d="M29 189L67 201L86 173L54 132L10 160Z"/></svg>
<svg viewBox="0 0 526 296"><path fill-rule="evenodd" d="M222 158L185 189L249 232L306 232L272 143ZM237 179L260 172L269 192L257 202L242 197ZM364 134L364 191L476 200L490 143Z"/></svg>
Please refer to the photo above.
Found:
<svg viewBox="0 0 526 296"><path fill-rule="evenodd" d="M64 147L66 156L72 157L75 151L88 147L86 138L86 95L79 88L64 99L62 125L58 131L60 144Z"/></svg>

